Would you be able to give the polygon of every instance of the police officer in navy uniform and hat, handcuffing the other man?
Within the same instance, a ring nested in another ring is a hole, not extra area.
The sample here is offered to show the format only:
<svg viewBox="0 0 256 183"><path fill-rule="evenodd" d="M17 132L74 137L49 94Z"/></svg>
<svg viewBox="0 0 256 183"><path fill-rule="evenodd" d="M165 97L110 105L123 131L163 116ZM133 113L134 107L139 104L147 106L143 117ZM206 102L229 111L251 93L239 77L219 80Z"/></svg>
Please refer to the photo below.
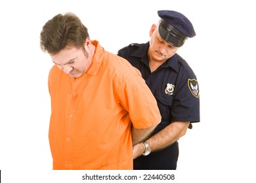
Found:
<svg viewBox="0 0 256 183"><path fill-rule="evenodd" d="M130 44L117 54L139 69L161 112L161 123L154 133L133 147L134 169L175 170L178 140L192 128L192 123L200 122L198 80L177 54L186 39L196 33L180 12L159 10L158 16L158 24L150 29L150 41Z"/></svg>

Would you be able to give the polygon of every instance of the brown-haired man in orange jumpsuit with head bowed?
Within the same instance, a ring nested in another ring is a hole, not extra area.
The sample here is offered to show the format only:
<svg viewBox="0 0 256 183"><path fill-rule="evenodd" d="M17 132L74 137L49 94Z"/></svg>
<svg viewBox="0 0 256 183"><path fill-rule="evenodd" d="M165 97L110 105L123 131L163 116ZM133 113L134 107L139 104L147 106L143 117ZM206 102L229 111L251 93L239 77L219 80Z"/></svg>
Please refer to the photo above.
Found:
<svg viewBox="0 0 256 183"><path fill-rule="evenodd" d="M57 14L41 31L49 73L53 169L133 169L133 145L161 121L140 72L91 41L75 14Z"/></svg>

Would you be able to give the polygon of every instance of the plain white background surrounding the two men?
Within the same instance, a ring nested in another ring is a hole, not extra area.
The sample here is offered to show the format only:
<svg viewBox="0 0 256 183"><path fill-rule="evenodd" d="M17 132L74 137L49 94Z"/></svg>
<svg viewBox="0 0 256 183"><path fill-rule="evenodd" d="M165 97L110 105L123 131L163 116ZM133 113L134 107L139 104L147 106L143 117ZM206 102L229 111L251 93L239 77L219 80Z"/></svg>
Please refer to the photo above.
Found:
<svg viewBox="0 0 256 183"><path fill-rule="evenodd" d="M91 39L116 53L147 42L163 9L182 12L194 25L196 37L178 54L198 77L201 101L201 122L179 141L173 182L255 182L256 13L249 0L1 1L3 182L85 182L86 171L51 171L47 77L53 63L39 48L42 26L58 13L74 12Z"/></svg>

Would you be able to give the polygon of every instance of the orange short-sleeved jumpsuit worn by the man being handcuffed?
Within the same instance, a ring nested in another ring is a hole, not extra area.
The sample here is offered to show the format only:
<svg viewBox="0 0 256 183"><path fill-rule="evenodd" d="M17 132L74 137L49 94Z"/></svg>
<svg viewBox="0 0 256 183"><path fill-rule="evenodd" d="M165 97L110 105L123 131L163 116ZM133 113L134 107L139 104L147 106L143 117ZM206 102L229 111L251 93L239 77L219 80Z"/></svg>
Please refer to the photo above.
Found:
<svg viewBox="0 0 256 183"><path fill-rule="evenodd" d="M87 72L49 73L49 142L53 169L133 169L131 122L156 125L161 115L140 72L98 41Z"/></svg>

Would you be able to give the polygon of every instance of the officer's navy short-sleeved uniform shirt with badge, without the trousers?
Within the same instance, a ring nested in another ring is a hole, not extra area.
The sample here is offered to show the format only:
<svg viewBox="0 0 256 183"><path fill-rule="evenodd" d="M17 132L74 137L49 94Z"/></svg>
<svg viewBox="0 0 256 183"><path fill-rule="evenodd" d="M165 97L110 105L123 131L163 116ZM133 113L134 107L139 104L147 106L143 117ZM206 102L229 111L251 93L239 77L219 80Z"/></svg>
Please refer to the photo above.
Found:
<svg viewBox="0 0 256 183"><path fill-rule="evenodd" d="M198 81L188 63L175 54L151 73L148 64L148 48L149 42L130 44L119 50L118 56L127 59L131 65L139 69L156 97L162 117L158 128L162 129L172 120L200 122Z"/></svg>

